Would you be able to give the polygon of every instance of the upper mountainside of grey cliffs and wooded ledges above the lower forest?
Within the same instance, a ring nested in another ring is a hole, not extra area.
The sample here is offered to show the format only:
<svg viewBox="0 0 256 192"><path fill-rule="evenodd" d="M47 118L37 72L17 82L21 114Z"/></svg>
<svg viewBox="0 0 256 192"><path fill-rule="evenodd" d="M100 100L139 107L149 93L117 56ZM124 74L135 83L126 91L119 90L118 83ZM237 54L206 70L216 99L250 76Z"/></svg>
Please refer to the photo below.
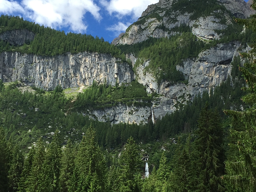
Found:
<svg viewBox="0 0 256 192"><path fill-rule="evenodd" d="M239 51L250 49L247 43L254 36L249 30L243 31L232 17L244 18L252 13L240 0L161 0L148 6L127 28L117 40L125 44L122 46L87 35L65 35L26 21L22 21L27 25L23 30L20 21L10 17L7 26L1 27L0 37L5 38L0 48L5 51L0 55L0 78L4 82L22 80L45 90L57 85L90 86L93 82L118 86L137 80L152 95L151 105L115 102L104 108L90 106L82 112L104 122L155 122L228 79L232 61ZM11 26L11 20L16 24ZM27 44L10 46L12 36L8 40L3 34L18 34L17 30L36 35L32 40L24 38ZM61 43L62 38L65 42ZM56 47L49 43L53 40L58 42ZM127 53L126 59L121 50ZM129 60L132 66L124 62Z"/></svg>

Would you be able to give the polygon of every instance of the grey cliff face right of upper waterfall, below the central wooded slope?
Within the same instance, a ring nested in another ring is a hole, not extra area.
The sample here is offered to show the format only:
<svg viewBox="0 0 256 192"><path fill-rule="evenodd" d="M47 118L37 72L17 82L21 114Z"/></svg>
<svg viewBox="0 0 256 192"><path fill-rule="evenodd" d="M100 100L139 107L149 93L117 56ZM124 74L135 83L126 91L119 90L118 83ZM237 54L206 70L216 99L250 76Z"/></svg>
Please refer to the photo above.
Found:
<svg viewBox="0 0 256 192"><path fill-rule="evenodd" d="M211 88L225 81L232 69L231 61L239 55L239 47L240 42L237 41L218 44L202 51L197 58L184 60L183 65L177 65L176 68L183 72L188 83L172 84L165 81L159 85L151 73L144 71L149 61L138 67L136 79L139 83L146 86L148 93L160 94L152 103L151 116L154 120L174 112L180 103L186 104L197 94L210 92Z"/></svg>

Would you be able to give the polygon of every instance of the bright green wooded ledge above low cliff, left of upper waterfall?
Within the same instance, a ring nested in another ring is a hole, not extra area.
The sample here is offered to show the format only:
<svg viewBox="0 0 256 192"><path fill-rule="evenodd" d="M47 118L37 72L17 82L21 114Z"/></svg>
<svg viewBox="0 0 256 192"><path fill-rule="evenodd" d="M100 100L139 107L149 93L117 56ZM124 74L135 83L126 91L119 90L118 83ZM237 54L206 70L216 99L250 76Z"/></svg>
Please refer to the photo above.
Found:
<svg viewBox="0 0 256 192"><path fill-rule="evenodd" d="M106 108L124 103L128 106L151 106L151 98L147 96L146 89L137 81L123 83L112 87L107 84L97 85L96 82L77 95L74 102L76 109L83 111L86 108Z"/></svg>

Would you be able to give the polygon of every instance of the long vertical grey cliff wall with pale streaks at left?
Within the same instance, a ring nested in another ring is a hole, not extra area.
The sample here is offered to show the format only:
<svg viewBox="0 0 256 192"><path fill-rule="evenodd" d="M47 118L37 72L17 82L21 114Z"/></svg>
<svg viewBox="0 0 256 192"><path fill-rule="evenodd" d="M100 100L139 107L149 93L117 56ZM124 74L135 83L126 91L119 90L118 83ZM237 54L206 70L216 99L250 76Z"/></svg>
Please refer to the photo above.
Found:
<svg viewBox="0 0 256 192"><path fill-rule="evenodd" d="M131 82L133 71L127 63L109 54L78 53L54 57L3 52L0 54L0 79L4 82L21 80L30 86L53 90L92 85L93 81L114 86Z"/></svg>

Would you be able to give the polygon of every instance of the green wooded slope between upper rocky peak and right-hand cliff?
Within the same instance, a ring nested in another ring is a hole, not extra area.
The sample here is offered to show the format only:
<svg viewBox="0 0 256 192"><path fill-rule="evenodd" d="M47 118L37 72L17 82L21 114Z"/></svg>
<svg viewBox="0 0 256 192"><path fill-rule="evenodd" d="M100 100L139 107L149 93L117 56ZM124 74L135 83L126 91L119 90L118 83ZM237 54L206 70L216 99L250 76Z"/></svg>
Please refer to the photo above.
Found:
<svg viewBox="0 0 256 192"><path fill-rule="evenodd" d="M176 65L182 64L182 59L196 57L204 48L202 41L197 41L197 37L191 32L176 35L172 38L161 38L148 47L142 49L135 63L135 69L142 63L150 59L146 71L152 72L159 82L169 80L177 82L184 80L183 74L176 70Z"/></svg>

